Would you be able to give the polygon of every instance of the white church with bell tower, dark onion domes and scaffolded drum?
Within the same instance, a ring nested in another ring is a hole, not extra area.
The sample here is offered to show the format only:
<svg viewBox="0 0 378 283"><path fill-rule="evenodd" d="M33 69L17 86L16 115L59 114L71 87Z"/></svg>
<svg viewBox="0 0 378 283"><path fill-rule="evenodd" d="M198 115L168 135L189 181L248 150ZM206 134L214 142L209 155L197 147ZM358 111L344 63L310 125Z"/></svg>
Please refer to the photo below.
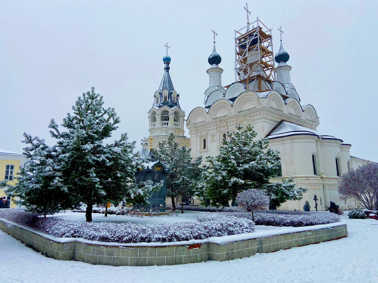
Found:
<svg viewBox="0 0 378 283"><path fill-rule="evenodd" d="M301 104L291 83L291 66L287 63L290 56L282 47L282 38L274 56L271 29L257 18L235 31L234 39L235 82L222 86L223 69L219 66L222 59L215 50L214 34L204 105L193 109L186 120L190 139L184 136L184 111L169 75L170 57L164 56L163 80L154 94L148 116L153 148L173 132L181 145L192 148L193 157L215 156L227 131L234 131L239 124L251 124L258 133L257 138L269 138L269 147L280 152L281 172L271 181L292 176L297 186L308 188L301 201L287 201L279 209L302 210L308 200L314 210L315 194L318 210L326 210L329 201L341 209L359 206L354 198L339 199L338 180L348 170L369 161L351 156L351 145L340 137L316 130L319 117L312 105ZM146 155L147 143L143 141ZM205 158L203 165L206 165Z"/></svg>

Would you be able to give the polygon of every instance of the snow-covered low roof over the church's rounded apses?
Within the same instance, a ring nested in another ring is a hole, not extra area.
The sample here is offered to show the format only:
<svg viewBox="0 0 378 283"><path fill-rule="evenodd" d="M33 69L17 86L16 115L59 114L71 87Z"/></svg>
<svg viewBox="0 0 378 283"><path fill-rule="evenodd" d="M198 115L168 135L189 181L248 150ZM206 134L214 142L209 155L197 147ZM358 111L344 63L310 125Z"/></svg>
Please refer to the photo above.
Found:
<svg viewBox="0 0 378 283"><path fill-rule="evenodd" d="M332 139L332 140L340 140L339 138L334 137L333 135L323 135L320 134L318 131L308 129L304 126L297 125L294 123L287 122L285 120L281 120L277 123L276 126L266 135L267 138L281 138L287 137L290 135L315 135L319 138L323 139Z"/></svg>

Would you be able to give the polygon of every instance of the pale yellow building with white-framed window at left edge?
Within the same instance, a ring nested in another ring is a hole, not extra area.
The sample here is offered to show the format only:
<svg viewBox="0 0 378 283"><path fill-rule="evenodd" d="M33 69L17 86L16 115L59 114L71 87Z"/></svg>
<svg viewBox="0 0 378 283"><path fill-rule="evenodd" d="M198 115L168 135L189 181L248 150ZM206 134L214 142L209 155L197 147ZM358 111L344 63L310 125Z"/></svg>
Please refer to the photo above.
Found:
<svg viewBox="0 0 378 283"><path fill-rule="evenodd" d="M15 185L17 183L15 177L20 172L20 166L23 167L27 161L28 158L22 153L0 149L0 181L8 180L10 185ZM5 190L0 189L0 197L6 198L11 208L15 207L10 201L11 197L5 195Z"/></svg>

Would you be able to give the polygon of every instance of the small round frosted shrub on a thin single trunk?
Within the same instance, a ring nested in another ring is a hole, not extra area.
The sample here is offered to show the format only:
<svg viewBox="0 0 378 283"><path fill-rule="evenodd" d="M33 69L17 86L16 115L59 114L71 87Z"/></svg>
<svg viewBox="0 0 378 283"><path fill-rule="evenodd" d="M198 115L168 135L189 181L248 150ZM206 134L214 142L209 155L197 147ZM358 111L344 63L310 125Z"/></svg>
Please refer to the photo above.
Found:
<svg viewBox="0 0 378 283"><path fill-rule="evenodd" d="M241 191L237 194L236 201L239 206L252 212L252 221L255 221L254 210L266 209L269 205L269 197L266 195L266 190L261 189Z"/></svg>

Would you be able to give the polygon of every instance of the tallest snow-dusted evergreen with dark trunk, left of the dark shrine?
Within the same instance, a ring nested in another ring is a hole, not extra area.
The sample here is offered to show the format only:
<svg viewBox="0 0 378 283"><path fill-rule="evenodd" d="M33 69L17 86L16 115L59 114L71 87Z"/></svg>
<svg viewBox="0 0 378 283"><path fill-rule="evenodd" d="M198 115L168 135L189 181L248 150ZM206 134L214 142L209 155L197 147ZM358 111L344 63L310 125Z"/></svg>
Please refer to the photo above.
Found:
<svg viewBox="0 0 378 283"><path fill-rule="evenodd" d="M70 195L87 205L86 221L92 221L96 203L125 200L146 200L152 184L135 185L136 168L141 167L135 141L127 134L104 145L120 122L114 108L104 108L102 96L95 89L83 93L72 106L73 114L63 119L60 131L54 119L51 136L57 139L61 179Z"/></svg>

